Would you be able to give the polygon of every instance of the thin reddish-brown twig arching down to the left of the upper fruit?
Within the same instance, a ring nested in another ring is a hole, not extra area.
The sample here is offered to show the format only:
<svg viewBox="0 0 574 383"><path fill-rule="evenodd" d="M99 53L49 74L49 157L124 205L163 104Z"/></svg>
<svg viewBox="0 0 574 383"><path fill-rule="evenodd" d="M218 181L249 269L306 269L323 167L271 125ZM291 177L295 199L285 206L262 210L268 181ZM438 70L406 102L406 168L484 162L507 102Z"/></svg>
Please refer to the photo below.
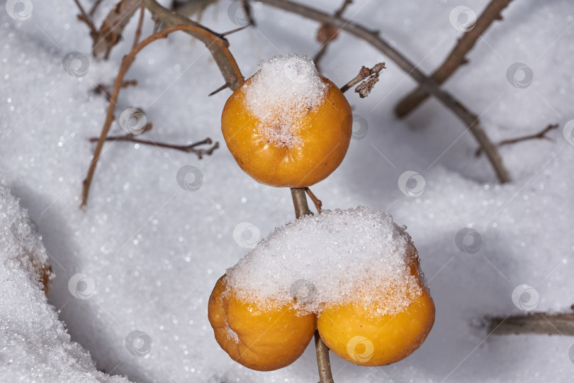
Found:
<svg viewBox="0 0 574 383"><path fill-rule="evenodd" d="M111 127L111 124L113 122L113 111L115 109L116 102L118 101L118 95L120 93L120 88L121 88L121 85L123 83L123 77L125 76L125 73L128 72L128 70L130 69L130 65L132 65L133 61L135 60L135 56L137 55L138 52L140 52L140 50L142 50L143 48L145 48L147 45L154 42L155 40L158 40L160 38L167 38L169 33L173 33L176 30L186 30L189 33L192 33L193 35L195 35L197 33L198 35L201 35L202 38L206 38L206 36L208 36L206 30L204 30L201 27L197 27L195 25L172 26L170 28L166 28L166 29L162 30L161 32L154 33L153 35L150 35L145 40L143 40L141 43L137 44L136 47L130 53L128 53L128 55L125 55L123 57L122 63L120 65L120 70L118 72L118 77L116 77L116 82L113 85L113 91L111 94L110 104L108 106L108 113L106 114L106 121L103 123L103 128L101 130L101 135L100 135L100 138L98 141L98 145L96 145L96 150L94 150L94 156L91 159L91 163L90 163L90 167L89 167L86 179L84 179L84 185L83 185L84 187L83 187L82 192L81 192L81 206L86 206L86 203L88 201L88 194L89 194L89 188L91 185L91 181L94 178L94 172L96 172L96 165L98 164L98 160L99 160L100 155L101 155L103 143L106 141L106 137L108 136L108 131L110 131L110 127ZM226 42L224 43L225 40L222 40L217 35L212 34L209 36L211 38L209 40L210 45L217 45L218 49L220 51L222 51L222 52L226 51L230 57L230 60L233 60L233 56L231 55L229 50L227 50L227 45L225 44ZM222 60L221 57L220 57L220 60ZM230 67L232 67L232 65L235 65L235 67L237 67L237 63L235 62L235 60L233 60L232 63L229 63L229 65L230 65ZM239 71L239 67L237 67L237 71ZM237 72L237 76L240 76L240 78L243 79L241 77L241 72Z"/></svg>

